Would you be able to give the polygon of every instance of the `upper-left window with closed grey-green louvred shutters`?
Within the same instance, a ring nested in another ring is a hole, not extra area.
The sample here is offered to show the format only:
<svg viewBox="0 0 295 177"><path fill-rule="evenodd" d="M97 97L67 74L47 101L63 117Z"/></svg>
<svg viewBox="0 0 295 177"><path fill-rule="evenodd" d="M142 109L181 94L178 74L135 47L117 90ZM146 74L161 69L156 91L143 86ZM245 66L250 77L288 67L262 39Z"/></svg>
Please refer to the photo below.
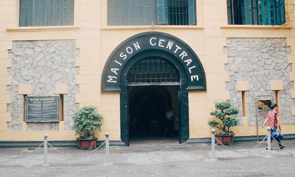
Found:
<svg viewBox="0 0 295 177"><path fill-rule="evenodd" d="M74 25L74 0L20 0L20 27Z"/></svg>

